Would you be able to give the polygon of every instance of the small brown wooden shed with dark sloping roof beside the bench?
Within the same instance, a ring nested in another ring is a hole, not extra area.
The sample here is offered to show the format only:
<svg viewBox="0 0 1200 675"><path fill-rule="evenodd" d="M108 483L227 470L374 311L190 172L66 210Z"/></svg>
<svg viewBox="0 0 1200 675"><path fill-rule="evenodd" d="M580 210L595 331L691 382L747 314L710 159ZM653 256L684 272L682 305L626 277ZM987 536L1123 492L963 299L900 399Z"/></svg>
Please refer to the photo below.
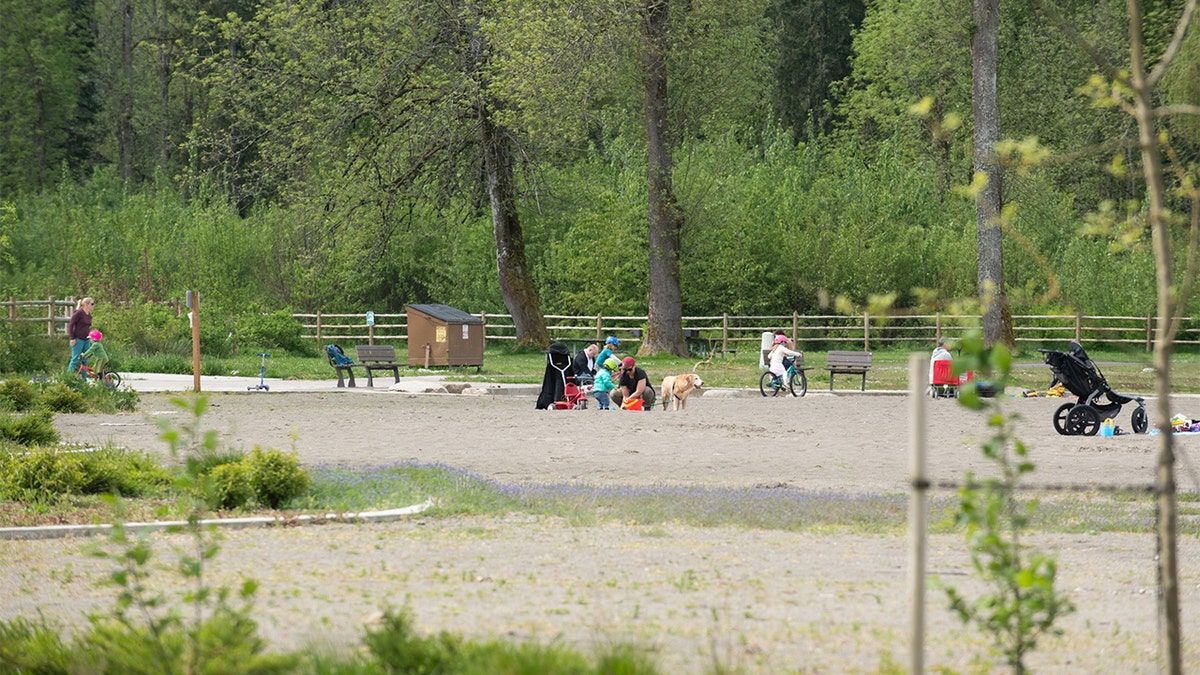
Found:
<svg viewBox="0 0 1200 675"><path fill-rule="evenodd" d="M404 305L408 365L484 366L484 319L450 305Z"/></svg>

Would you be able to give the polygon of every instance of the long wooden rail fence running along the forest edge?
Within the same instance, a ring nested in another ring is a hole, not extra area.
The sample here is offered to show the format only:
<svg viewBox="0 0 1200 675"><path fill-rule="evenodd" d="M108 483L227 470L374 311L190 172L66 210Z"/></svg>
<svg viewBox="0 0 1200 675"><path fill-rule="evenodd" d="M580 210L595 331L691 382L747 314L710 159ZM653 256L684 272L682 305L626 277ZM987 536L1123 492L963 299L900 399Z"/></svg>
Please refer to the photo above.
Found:
<svg viewBox="0 0 1200 675"><path fill-rule="evenodd" d="M48 336L66 331L73 298L17 300L8 298L0 317L11 322L43 323ZM301 324L302 338L324 345L328 342L407 342L406 313L294 313ZM512 316L506 313L476 313L484 322L485 340L493 344L516 339ZM582 344L604 341L614 335L622 342L637 344L646 328L644 316L546 315L546 327L556 341ZM1145 316L1100 315L1013 315L1013 333L1018 342L1061 345L1076 339L1087 345L1136 345L1146 351L1153 347L1159 319ZM950 313L893 315L710 315L683 317L684 336L700 352L727 353L739 347L756 351L764 331L784 330L797 344L827 344L847 348L899 346L907 342L924 348L940 336L956 338L979 324L979 317ZM1181 319L1178 345L1200 345L1200 322Z"/></svg>

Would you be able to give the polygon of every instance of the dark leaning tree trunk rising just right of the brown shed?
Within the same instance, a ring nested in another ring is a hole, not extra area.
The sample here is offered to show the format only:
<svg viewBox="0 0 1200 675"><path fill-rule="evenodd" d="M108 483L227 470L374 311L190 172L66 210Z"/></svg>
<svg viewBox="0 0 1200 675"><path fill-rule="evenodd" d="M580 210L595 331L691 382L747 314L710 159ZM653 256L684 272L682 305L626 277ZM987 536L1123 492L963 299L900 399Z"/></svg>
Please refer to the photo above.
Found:
<svg viewBox="0 0 1200 675"><path fill-rule="evenodd" d="M484 145L484 171L487 174L487 196L492 204L500 297L512 315L516 346L544 350L550 344L550 336L546 333L546 318L541 313L538 292L534 291L529 263L524 255L524 237L521 233L516 191L512 187L511 141L506 131L492 121L486 106L479 107L479 126Z"/></svg>

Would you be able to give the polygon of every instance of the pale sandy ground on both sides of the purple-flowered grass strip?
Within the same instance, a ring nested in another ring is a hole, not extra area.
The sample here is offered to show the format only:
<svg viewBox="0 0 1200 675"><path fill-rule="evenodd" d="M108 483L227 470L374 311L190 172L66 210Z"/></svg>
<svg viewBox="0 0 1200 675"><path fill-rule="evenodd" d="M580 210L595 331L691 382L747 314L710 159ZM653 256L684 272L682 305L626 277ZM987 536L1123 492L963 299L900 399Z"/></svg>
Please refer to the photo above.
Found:
<svg viewBox="0 0 1200 675"><path fill-rule="evenodd" d="M161 448L146 395L127 416L60 416L64 436ZM895 396L696 399L685 413L538 412L532 399L388 393L229 394L205 422L227 444L295 449L306 464L443 462L508 483L787 485L900 494L907 402ZM1063 437L1061 401L1012 400L1038 464L1033 482L1138 485L1153 478L1153 438ZM1184 404L1186 405L1186 404ZM984 472L980 420L931 404L930 473ZM1200 414L1196 414L1200 417ZM1128 411L1117 420L1128 425ZM1200 442L1200 441L1196 441ZM1181 452L1195 455L1186 440ZM1181 486L1189 479L1181 474ZM1194 489L1194 488L1193 488ZM938 514L935 514L937 516ZM786 533L556 519L414 519L226 534L217 578L260 583L256 610L280 649L352 645L383 605L408 605L424 631L590 644L632 640L665 673L714 662L748 673L875 671L906 659L906 538ZM178 543L157 536L161 548ZM78 622L109 607L89 542L0 542L0 619L35 610ZM1030 661L1043 673L1154 673L1154 542L1070 534L1033 543L1058 556L1078 611ZM1181 542L1184 626L1200 613L1200 543ZM931 575L973 587L958 536L930 540ZM162 581L167 575L161 575ZM980 638L928 599L928 667L971 670ZM1184 634L1188 634L1184 631ZM1186 644L1188 662L1200 644Z"/></svg>

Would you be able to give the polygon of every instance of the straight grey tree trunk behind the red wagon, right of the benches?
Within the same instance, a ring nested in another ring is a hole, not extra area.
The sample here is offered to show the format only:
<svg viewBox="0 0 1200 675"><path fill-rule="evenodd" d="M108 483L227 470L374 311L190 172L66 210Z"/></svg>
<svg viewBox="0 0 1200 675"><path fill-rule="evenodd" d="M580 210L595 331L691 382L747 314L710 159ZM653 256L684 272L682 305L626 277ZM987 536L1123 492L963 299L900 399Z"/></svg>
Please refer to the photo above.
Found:
<svg viewBox="0 0 1200 675"><path fill-rule="evenodd" d="M971 108L974 113L974 171L986 178L976 195L978 292L983 304L984 342L1013 346L1013 316L1004 294L1003 232L1000 227L1001 171L996 159L1000 108L996 104L1000 0L974 0L971 38Z"/></svg>

